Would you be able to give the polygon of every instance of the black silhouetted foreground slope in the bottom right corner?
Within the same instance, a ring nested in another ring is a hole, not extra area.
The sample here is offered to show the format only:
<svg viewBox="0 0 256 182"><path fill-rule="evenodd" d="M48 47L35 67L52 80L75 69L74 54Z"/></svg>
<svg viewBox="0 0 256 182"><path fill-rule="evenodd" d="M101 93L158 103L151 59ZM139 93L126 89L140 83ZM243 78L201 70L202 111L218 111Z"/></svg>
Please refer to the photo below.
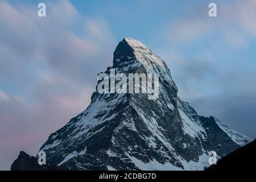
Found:
<svg viewBox="0 0 256 182"><path fill-rule="evenodd" d="M256 139L218 160L206 171L256 171Z"/></svg>

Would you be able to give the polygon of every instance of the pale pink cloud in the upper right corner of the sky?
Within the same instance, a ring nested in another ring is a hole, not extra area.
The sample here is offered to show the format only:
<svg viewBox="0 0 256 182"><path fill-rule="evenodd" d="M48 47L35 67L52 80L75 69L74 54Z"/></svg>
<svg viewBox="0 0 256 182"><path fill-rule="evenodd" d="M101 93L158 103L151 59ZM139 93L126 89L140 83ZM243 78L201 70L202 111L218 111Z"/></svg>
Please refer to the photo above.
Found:
<svg viewBox="0 0 256 182"><path fill-rule="evenodd" d="M170 42L189 44L218 34L222 43L234 48L246 45L246 35L256 39L255 1L222 1L217 3L217 17L208 16L208 6L188 10L183 18L167 25L166 36Z"/></svg>

